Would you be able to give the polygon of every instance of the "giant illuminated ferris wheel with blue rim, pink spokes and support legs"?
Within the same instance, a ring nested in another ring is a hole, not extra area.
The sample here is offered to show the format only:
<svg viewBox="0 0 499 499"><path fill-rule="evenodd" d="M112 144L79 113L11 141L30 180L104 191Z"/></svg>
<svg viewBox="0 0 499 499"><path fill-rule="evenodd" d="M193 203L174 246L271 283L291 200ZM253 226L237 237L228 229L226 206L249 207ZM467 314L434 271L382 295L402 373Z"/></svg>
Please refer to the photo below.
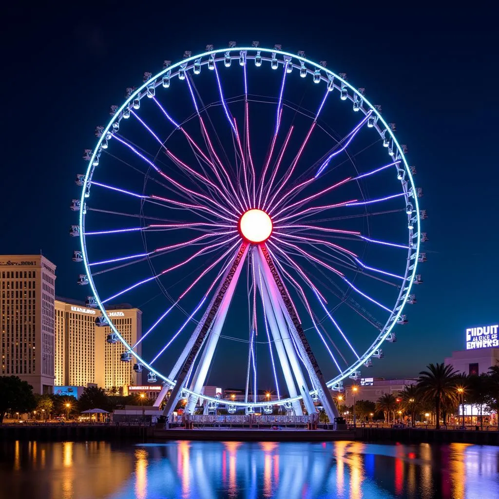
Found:
<svg viewBox="0 0 499 499"><path fill-rule="evenodd" d="M110 114L70 230L107 341L163 382L157 404L171 390L165 414L180 397L187 413L320 401L332 420L331 390L384 356L422 282L426 214L395 125L324 61L258 42L165 61ZM136 342L106 312L118 301L144 310ZM203 393L222 376L241 396Z"/></svg>

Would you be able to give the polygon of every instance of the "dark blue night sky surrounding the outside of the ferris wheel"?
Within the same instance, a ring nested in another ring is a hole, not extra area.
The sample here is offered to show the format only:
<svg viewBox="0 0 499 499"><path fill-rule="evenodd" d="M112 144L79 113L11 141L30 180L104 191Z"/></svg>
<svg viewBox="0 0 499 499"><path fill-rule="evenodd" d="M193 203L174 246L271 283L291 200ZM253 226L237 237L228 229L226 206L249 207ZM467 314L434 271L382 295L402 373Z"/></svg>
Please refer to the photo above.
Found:
<svg viewBox="0 0 499 499"><path fill-rule="evenodd" d="M57 265L56 294L84 299L76 285L80 267L71 261L78 241L68 236L76 223L69 204L79 198L74 179L86 168L81 153L93 147L94 128L107 123L109 106L120 104L124 88L138 86L144 71L179 60L184 50L201 52L207 43L229 40L281 43L327 60L366 88L386 121L396 122L424 191L428 261L420 267L424 284L414 290L418 303L407 307L409 324L397 328L398 342L385 345L385 358L364 374L415 376L463 349L466 327L498 321L492 29L463 19L428 24L414 13L402 15L406 24L398 27L380 12L376 22L367 16L354 22L353 11L341 16L336 7L331 17L284 15L277 7L231 8L226 15L207 4L208 14L194 16L189 8L158 10L156 3L149 13L122 2L86 5L50 12L17 7L4 18L0 253L41 250Z"/></svg>

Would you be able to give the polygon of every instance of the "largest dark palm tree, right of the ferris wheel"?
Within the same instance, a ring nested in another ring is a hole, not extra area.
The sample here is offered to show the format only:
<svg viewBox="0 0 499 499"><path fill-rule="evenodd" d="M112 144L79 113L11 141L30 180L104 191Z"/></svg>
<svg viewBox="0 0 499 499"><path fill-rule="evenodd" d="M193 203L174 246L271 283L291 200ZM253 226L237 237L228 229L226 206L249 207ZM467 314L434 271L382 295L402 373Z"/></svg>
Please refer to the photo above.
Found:
<svg viewBox="0 0 499 499"><path fill-rule="evenodd" d="M432 400L435 406L436 428L440 430L440 408L442 403L457 399L456 374L451 365L430 364L427 371L421 371L418 389L424 397Z"/></svg>

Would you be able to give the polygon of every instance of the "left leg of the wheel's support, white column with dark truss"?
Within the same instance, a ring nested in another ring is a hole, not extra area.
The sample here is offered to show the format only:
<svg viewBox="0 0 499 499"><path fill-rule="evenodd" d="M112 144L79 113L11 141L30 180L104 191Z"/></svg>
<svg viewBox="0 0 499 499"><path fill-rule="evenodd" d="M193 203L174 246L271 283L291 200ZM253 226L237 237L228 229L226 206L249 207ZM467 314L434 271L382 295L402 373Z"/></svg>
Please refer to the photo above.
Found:
<svg viewBox="0 0 499 499"><path fill-rule="evenodd" d="M184 387L186 377L189 374L189 370L194 364L194 361L196 360L196 357L198 356L198 353L200 352L203 343L208 336L207 344L205 346L202 358L200 360L198 368L196 369L191 384L191 386L194 387L194 391L196 391L196 393L200 393L201 388L203 387L206 375L208 373L208 368L215 352L215 347L220 337L220 331L227 316L229 305L231 304L234 289L236 287L241 269L243 268L243 263L248 253L248 248L249 246L246 243L243 243L241 245L231 268L218 287L215 301L213 301L212 306L209 308L206 320L203 322L203 325L199 330L198 337L196 338L194 345L192 346L182 368L179 371L177 382L172 389L170 398L168 399L165 410L163 411L163 414L165 416L169 417L175 410L181 390ZM210 331L212 324L213 328ZM186 411L192 412L196 406L196 402L197 397L190 396L186 406Z"/></svg>

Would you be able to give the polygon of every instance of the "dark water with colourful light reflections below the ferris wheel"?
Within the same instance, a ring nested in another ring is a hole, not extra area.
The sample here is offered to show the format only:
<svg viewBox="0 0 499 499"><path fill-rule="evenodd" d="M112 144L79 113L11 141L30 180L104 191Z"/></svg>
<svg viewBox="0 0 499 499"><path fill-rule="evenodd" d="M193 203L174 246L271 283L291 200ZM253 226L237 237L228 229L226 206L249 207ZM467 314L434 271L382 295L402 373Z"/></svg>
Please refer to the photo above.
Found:
<svg viewBox="0 0 499 499"><path fill-rule="evenodd" d="M11 442L0 497L499 498L499 448L360 442Z"/></svg>

